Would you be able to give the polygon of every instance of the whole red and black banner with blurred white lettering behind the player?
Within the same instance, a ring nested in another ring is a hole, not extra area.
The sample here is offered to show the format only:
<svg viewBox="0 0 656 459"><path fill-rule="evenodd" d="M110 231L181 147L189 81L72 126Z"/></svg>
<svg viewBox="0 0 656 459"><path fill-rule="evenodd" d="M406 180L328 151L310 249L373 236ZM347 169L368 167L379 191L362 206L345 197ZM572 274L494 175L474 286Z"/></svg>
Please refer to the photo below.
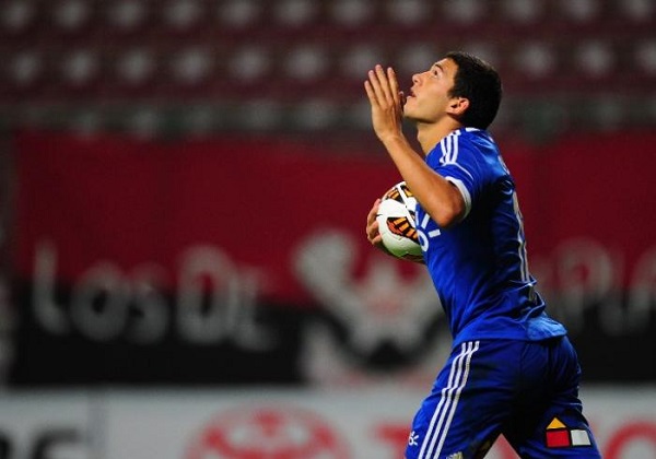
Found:
<svg viewBox="0 0 656 459"><path fill-rule="evenodd" d="M656 379L656 363L625 358L656 352L655 145L651 132L501 144L538 290L594 378ZM353 362L407 366L449 346L421 267L364 236L374 199L399 180L382 148L336 154L273 138L50 132L17 134L14 146L20 380L51 377L56 358L46 354L61 345L58 355L71 357L65 339L86 354L58 374L84 378L79 368L97 365L108 377L142 352L161 360L162 377L183 381L259 380L270 370L352 379L363 369ZM344 348L356 356L349 364ZM235 349L245 362L260 358L258 369L235 363ZM141 370L139 362L110 379ZM435 362L425 363L433 375Z"/></svg>

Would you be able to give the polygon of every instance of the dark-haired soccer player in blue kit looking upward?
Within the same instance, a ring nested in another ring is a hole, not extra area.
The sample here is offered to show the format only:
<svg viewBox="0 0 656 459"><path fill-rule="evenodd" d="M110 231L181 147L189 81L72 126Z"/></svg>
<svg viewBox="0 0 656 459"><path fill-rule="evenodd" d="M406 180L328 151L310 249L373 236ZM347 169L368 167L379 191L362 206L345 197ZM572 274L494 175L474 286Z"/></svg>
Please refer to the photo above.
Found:
<svg viewBox="0 0 656 459"><path fill-rule="evenodd" d="M414 74L407 95L382 66L364 86L374 131L418 200L423 262L453 334L406 458L482 458L501 434L523 458L600 458L578 399L578 358L535 290L515 184L487 131L501 103L497 72L449 52ZM366 233L380 247L378 203Z"/></svg>

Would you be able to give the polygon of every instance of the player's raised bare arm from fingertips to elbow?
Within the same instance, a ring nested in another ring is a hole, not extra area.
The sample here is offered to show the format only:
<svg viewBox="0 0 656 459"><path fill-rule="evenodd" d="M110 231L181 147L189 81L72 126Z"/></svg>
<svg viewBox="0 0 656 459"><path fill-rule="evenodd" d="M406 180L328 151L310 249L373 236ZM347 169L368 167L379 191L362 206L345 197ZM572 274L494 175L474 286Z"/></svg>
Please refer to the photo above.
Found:
<svg viewBox="0 0 656 459"><path fill-rule="evenodd" d="M446 228L460 221L466 213L462 195L455 185L429 167L402 132L403 94L398 89L394 70L388 68L385 72L376 66L370 71L364 86L372 106L374 131L408 188L441 227Z"/></svg>

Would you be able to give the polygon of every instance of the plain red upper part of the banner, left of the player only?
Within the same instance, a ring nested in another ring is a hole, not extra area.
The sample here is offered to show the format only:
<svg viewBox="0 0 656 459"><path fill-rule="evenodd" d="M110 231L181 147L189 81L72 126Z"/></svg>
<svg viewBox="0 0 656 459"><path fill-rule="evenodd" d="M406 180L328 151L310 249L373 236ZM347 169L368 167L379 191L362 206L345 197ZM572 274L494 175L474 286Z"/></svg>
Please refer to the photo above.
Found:
<svg viewBox="0 0 656 459"><path fill-rule="evenodd" d="M181 143L26 133L16 139L16 268L57 250L57 278L77 282L103 261L155 263L175 287L185 254L215 247L262 282L267 298L306 302L293 275L297 244L340 228L362 250L366 213L398 175L385 161L257 140Z"/></svg>

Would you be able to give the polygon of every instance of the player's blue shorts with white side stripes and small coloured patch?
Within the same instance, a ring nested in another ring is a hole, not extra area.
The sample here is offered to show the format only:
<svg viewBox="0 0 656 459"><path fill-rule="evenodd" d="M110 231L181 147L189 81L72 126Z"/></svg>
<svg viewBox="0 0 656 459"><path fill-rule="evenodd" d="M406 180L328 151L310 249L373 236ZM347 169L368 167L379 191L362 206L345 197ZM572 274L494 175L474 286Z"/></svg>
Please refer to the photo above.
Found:
<svg viewBox="0 0 656 459"><path fill-rule="evenodd" d="M406 458L482 458L503 434L523 458L600 458L570 340L454 348L412 422Z"/></svg>

